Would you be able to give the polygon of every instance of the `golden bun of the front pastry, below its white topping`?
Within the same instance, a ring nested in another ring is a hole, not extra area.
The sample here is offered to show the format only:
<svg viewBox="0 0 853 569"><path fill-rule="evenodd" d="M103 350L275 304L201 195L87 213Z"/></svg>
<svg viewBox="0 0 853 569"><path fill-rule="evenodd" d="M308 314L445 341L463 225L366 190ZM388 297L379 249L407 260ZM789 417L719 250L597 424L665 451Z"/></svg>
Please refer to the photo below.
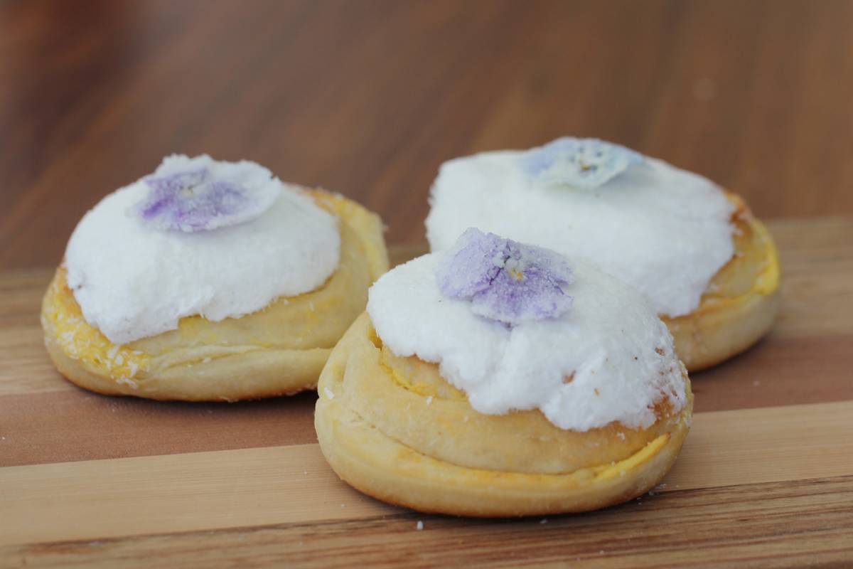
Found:
<svg viewBox="0 0 853 569"><path fill-rule="evenodd" d="M340 478L385 502L483 517L580 512L639 496L669 471L693 409L683 377L688 404L674 412L664 399L646 429L566 431L538 410L483 415L438 366L384 348L363 314L323 369L315 425Z"/></svg>

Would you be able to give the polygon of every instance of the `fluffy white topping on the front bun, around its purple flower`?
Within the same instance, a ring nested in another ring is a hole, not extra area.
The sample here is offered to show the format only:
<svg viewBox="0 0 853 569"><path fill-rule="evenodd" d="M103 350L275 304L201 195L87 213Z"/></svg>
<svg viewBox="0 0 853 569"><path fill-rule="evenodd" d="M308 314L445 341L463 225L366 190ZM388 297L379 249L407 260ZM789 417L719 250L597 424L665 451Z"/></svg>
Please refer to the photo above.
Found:
<svg viewBox="0 0 853 569"><path fill-rule="evenodd" d="M439 363L444 380L466 392L473 409L489 415L541 409L557 427L587 431L612 421L648 427L664 393L675 410L687 403L669 330L622 282L572 259L576 281L566 290L572 310L507 329L475 315L466 301L442 296L435 277L441 255L381 276L367 310L393 353ZM614 336L614 329L622 333ZM572 370L574 380L564 384Z"/></svg>

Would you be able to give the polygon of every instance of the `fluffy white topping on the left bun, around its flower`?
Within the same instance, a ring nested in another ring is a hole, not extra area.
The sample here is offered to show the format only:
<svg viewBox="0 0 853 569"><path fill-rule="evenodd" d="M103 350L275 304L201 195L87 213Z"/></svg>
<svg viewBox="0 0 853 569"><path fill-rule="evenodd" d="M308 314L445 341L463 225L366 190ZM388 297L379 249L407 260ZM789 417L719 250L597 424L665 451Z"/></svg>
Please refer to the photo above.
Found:
<svg viewBox="0 0 853 569"><path fill-rule="evenodd" d="M86 322L113 344L176 329L183 316L200 314L219 322L259 311L276 297L314 290L338 266L337 220L263 166L170 156L156 173L198 167L277 197L257 218L182 234L126 215L148 195L143 178L107 195L68 241L68 287Z"/></svg>

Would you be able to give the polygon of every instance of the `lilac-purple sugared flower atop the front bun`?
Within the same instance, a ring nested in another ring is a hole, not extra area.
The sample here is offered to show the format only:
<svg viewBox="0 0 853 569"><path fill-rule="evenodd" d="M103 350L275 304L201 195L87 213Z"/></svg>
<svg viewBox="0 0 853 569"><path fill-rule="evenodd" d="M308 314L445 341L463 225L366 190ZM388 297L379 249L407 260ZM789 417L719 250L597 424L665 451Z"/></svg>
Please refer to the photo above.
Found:
<svg viewBox="0 0 853 569"><path fill-rule="evenodd" d="M563 290L574 281L566 258L473 227L444 253L435 276L444 296L509 325L555 318L572 306Z"/></svg>

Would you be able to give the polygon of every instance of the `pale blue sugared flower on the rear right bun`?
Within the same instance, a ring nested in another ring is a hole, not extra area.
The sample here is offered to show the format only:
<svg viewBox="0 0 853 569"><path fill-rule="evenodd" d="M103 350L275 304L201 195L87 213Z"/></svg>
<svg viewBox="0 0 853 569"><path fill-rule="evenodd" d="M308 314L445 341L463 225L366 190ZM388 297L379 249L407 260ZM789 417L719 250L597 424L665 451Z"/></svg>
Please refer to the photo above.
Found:
<svg viewBox="0 0 853 569"><path fill-rule="evenodd" d="M595 189L643 161L642 154L612 142L566 136L531 148L520 165L527 176L547 185Z"/></svg>

